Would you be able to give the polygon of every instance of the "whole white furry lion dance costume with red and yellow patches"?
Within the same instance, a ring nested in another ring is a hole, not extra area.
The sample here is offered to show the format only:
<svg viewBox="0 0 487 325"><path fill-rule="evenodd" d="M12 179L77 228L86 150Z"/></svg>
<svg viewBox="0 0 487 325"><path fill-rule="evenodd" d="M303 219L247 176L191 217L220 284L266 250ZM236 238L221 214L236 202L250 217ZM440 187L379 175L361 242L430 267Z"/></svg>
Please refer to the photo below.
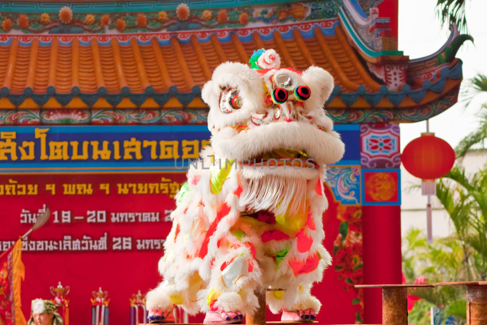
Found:
<svg viewBox="0 0 487 325"><path fill-rule="evenodd" d="M249 62L222 63L202 90L211 147L178 193L164 280L147 295L151 323L173 323L182 305L206 312L205 324L240 324L267 288L285 289L266 290L282 321L312 322L321 306L310 290L331 264L323 182L344 153L323 109L333 77L280 68L274 50Z"/></svg>

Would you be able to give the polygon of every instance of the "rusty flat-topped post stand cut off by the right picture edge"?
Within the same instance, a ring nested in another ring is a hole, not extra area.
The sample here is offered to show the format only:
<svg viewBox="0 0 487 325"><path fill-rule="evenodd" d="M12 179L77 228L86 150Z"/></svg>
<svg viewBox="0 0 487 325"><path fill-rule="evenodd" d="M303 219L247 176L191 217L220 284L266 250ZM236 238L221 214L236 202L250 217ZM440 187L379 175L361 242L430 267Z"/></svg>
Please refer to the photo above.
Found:
<svg viewBox="0 0 487 325"><path fill-rule="evenodd" d="M487 282L440 282L438 287L467 287L467 325L487 324Z"/></svg>

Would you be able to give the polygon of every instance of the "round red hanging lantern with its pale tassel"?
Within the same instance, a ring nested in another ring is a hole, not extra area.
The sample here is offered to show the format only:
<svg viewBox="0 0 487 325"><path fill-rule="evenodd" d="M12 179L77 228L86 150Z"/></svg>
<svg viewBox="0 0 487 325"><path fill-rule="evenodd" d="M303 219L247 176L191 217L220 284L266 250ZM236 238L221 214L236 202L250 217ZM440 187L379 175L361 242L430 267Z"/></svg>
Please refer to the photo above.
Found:
<svg viewBox="0 0 487 325"><path fill-rule="evenodd" d="M428 128L428 124L427 124ZM412 140L402 151L401 161L404 168L413 176L421 178L423 195L428 195L426 206L427 239L432 243L431 195L436 195L435 178L443 177L450 172L455 163L455 152L448 142L434 136L434 133L422 133Z"/></svg>

